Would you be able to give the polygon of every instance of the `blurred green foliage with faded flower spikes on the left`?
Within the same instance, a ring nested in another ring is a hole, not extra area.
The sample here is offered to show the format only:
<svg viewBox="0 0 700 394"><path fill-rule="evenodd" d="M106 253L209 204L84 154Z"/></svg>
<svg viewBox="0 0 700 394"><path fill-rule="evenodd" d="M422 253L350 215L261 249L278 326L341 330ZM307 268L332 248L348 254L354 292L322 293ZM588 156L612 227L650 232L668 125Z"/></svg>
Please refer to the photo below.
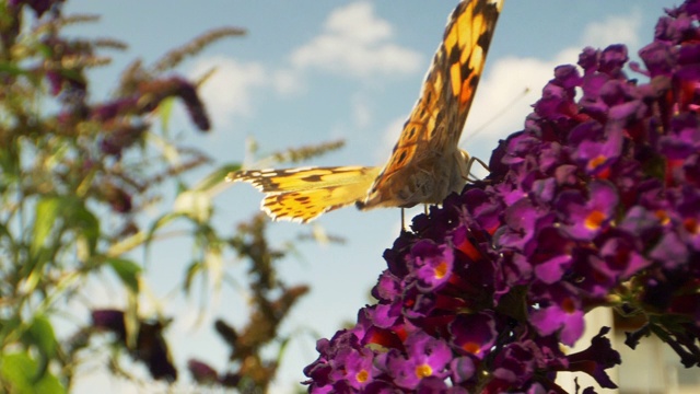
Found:
<svg viewBox="0 0 700 394"><path fill-rule="evenodd" d="M264 392L289 341L279 338L278 327L307 289L277 277L275 263L288 251L267 244L261 217L234 234L211 223L213 197L225 174L241 165L212 169L210 158L175 144L167 130L175 101L183 102L196 128L211 127L196 91L206 78L192 83L174 68L207 45L244 32L213 30L151 67L135 60L112 97L93 100L88 71L109 63L104 49L126 46L68 38L66 27L95 19L66 16L62 3L0 0L0 391L67 392L84 355L93 352L112 357L112 370L121 376L133 375L121 369L120 352L143 364L152 379L175 381L178 371L164 333L177 316L141 314L139 301L151 294L148 265L140 259L148 253L133 252L180 236L192 248L190 256L173 262L183 271L178 287L186 297L196 280L203 289L221 288L226 254L249 264L248 323L235 329L217 322L231 347L231 367L209 373L206 382ZM271 160L301 160L339 146L305 147ZM190 186L187 174L205 165L209 175ZM162 204L171 197L163 190L173 189L177 195L170 208ZM160 216L149 220L147 209ZM185 268L187 262L192 263ZM100 281L116 281L126 304L95 309L81 291ZM72 335L57 335L58 322L70 325ZM93 345L102 333L110 333L117 351L106 355ZM270 344L279 345L271 360L260 355ZM200 381L192 366L198 364L190 362L190 370Z"/></svg>

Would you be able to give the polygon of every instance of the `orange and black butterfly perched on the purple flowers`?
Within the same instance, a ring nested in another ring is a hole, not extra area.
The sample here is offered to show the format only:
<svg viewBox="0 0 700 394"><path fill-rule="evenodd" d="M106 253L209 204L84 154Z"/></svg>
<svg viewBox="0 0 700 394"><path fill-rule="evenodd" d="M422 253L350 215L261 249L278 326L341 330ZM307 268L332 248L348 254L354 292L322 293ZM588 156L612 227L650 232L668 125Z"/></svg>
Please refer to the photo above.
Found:
<svg viewBox="0 0 700 394"><path fill-rule="evenodd" d="M420 97L384 167L331 166L232 172L265 193L261 209L272 219L302 223L354 204L409 208L441 204L459 193L471 159L459 149L462 129L483 71L504 0L463 0L428 70Z"/></svg>

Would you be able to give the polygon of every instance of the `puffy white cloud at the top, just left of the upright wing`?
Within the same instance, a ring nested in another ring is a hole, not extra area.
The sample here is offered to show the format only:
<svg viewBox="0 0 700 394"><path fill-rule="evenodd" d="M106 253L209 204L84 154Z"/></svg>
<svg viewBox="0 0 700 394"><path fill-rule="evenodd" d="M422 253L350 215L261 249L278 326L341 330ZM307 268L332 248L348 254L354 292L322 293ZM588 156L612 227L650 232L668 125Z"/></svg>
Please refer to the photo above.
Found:
<svg viewBox="0 0 700 394"><path fill-rule="evenodd" d="M392 44L392 26L377 18L366 1L334 11L324 32L290 57L296 68L366 77L371 73L412 73L421 65L420 54Z"/></svg>

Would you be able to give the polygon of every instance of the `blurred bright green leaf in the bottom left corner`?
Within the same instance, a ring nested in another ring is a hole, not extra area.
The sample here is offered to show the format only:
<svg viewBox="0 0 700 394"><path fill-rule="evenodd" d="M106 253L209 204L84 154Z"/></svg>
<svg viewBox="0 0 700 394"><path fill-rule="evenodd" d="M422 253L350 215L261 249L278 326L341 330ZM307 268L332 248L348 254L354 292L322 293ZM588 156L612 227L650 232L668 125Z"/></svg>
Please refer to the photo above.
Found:
<svg viewBox="0 0 700 394"><path fill-rule="evenodd" d="M37 375L37 363L27 354L8 354L0 358L0 374L18 394L61 394L66 389L51 373Z"/></svg>

